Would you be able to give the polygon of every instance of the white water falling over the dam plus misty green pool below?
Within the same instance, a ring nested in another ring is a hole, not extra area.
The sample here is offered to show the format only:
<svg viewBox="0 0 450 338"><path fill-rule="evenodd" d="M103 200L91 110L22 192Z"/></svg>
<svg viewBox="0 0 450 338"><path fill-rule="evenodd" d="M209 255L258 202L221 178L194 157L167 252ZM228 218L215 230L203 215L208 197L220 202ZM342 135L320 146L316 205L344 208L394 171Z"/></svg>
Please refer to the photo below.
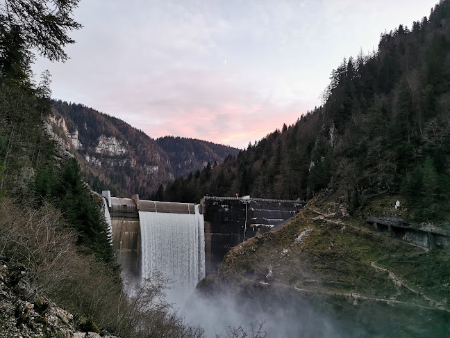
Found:
<svg viewBox="0 0 450 338"><path fill-rule="evenodd" d="M238 275L203 280L203 215L198 207L192 214L140 211L139 216L142 277L161 273L172 281L165 300L186 324L200 325L207 338L253 338L251 328L257 331L260 323L267 338L398 337L399 332L418 338L441 337L422 333L448 331L447 317L437 323L436 313L424 307L393 307L375 299L356 300ZM240 327L249 335L233 335L233 328Z"/></svg>

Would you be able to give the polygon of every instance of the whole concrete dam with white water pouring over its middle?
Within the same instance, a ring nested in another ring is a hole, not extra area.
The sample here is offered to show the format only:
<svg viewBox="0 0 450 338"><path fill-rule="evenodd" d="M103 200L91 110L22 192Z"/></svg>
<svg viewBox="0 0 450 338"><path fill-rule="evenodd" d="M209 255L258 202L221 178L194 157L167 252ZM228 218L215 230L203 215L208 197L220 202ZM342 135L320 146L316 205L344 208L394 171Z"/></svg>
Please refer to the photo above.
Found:
<svg viewBox="0 0 450 338"><path fill-rule="evenodd" d="M168 300L181 304L233 246L281 227L302 201L206 196L200 204L117 198L102 193L122 278L140 283L158 271L172 280Z"/></svg>

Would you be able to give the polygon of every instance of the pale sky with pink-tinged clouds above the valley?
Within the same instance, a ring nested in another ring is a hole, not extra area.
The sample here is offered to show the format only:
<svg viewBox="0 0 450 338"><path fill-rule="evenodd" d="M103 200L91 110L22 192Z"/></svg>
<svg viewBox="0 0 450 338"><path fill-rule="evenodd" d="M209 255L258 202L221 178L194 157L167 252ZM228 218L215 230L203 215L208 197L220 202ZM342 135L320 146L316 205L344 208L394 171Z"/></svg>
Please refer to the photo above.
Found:
<svg viewBox="0 0 450 338"><path fill-rule="evenodd" d="M247 147L315 106L344 57L437 0L81 0L70 59L38 58L53 98L152 138Z"/></svg>

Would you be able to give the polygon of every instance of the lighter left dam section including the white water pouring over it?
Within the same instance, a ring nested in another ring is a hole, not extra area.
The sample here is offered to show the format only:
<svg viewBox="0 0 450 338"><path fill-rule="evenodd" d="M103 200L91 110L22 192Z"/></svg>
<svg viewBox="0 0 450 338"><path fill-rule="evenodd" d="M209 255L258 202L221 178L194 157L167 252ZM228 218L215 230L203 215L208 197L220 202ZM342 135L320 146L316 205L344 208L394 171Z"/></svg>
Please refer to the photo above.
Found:
<svg viewBox="0 0 450 338"><path fill-rule="evenodd" d="M133 287L160 273L167 301L182 305L205 277L203 207L102 195L122 280Z"/></svg>

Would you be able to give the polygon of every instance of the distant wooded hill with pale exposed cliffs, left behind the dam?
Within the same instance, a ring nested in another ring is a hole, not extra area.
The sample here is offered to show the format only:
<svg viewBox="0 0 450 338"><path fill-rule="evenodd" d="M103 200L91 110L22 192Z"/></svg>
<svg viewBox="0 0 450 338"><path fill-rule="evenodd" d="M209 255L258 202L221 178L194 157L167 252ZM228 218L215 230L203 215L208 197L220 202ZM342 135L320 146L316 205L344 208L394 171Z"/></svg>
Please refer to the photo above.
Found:
<svg viewBox="0 0 450 338"><path fill-rule="evenodd" d="M160 182L174 179L169 158L155 140L122 120L81 104L53 101L51 124L96 191L144 198Z"/></svg>

